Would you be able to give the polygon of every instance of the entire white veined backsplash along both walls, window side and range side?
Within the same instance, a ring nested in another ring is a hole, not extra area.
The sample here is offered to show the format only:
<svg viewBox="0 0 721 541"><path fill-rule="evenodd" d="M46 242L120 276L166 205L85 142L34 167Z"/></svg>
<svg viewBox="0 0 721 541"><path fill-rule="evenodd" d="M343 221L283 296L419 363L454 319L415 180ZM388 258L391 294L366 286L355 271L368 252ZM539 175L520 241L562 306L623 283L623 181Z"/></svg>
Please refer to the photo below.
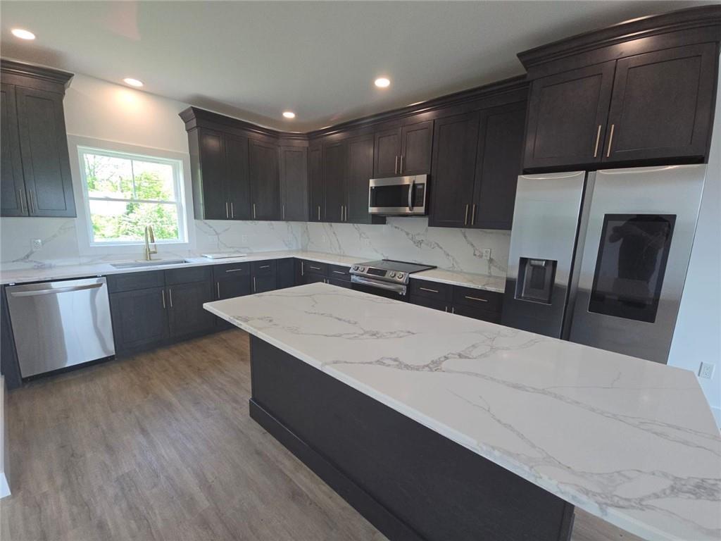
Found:
<svg viewBox="0 0 721 541"><path fill-rule="evenodd" d="M142 258L133 252L81 250L73 218L0 219L0 267L6 271L56 265L83 265ZM286 221L205 221L192 223L195 244L182 249L159 245L159 257L184 258L206 252L313 250L358 258L389 258L468 273L505 276L510 232L428 227L427 218L390 218L385 225L316 224ZM42 247L32 247L41 239ZM491 250L490 260L482 258Z"/></svg>

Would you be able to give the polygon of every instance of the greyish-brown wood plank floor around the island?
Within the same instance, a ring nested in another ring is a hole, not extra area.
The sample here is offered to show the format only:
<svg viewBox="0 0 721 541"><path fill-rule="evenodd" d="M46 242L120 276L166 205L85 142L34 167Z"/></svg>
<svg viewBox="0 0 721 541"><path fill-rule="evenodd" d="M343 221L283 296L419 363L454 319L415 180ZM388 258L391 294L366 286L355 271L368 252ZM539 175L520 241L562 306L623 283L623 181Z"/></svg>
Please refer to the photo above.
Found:
<svg viewBox="0 0 721 541"><path fill-rule="evenodd" d="M248 416L230 330L11 392L2 541L381 541ZM578 512L573 541L633 541Z"/></svg>

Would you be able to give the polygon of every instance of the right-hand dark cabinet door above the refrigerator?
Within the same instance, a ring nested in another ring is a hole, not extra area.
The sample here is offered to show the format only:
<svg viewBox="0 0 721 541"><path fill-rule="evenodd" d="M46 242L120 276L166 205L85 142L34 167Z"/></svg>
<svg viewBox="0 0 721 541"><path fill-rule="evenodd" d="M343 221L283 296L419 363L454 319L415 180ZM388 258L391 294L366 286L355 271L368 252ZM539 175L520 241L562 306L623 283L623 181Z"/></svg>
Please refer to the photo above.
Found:
<svg viewBox="0 0 721 541"><path fill-rule="evenodd" d="M619 60L603 161L702 159L712 127L715 66L715 43Z"/></svg>

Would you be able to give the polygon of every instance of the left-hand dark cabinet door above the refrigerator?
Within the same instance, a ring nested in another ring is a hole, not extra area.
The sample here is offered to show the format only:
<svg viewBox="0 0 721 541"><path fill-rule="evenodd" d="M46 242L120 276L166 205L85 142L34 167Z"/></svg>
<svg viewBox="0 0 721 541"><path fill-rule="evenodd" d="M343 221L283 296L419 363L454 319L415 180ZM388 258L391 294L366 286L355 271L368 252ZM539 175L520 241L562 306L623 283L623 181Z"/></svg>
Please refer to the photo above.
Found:
<svg viewBox="0 0 721 541"><path fill-rule="evenodd" d="M615 65L604 62L531 84L523 169L601 161Z"/></svg>

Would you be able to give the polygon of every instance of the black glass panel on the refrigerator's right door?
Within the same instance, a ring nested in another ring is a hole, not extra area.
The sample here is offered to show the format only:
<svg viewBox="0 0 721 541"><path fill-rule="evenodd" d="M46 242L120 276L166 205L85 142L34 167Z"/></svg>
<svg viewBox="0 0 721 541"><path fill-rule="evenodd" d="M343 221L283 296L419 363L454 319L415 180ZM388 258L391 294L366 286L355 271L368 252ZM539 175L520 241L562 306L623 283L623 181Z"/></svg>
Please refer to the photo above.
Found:
<svg viewBox="0 0 721 541"><path fill-rule="evenodd" d="M606 214L589 312L653 323L674 214Z"/></svg>

